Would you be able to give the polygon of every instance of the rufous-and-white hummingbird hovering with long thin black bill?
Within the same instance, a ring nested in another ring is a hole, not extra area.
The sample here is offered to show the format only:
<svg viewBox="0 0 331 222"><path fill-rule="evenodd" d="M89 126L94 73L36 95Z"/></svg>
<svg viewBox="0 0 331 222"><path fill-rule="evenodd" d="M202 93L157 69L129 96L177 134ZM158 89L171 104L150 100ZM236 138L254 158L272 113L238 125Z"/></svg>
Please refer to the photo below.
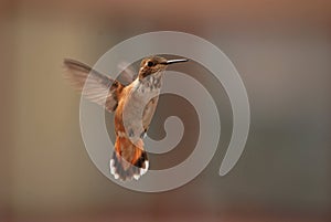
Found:
<svg viewBox="0 0 331 222"><path fill-rule="evenodd" d="M168 65L188 61L146 57L141 61L137 77L125 85L81 62L64 60L65 76L71 84L85 98L103 105L109 113L115 113L116 142L109 162L109 170L115 179L138 180L147 172L149 162L142 138L157 108L162 75ZM88 87L83 91L87 78ZM105 91L108 92L106 95Z"/></svg>

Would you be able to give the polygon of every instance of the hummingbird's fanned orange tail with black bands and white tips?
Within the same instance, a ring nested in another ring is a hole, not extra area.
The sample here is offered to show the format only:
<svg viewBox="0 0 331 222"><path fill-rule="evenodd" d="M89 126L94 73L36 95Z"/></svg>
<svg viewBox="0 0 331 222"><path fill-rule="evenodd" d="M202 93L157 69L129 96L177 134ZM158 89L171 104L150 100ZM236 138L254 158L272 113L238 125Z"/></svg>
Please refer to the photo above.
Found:
<svg viewBox="0 0 331 222"><path fill-rule="evenodd" d="M149 162L142 146L142 140L135 145L129 138L117 137L115 151L110 159L110 173L115 179L125 181L135 178L138 180L147 172Z"/></svg>

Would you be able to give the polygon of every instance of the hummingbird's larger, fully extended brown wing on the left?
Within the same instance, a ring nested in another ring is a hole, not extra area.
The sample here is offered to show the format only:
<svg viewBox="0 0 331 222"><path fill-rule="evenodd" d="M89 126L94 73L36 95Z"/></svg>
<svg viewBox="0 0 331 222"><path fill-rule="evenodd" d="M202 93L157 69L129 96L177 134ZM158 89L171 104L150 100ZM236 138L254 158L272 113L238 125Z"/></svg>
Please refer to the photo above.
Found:
<svg viewBox="0 0 331 222"><path fill-rule="evenodd" d="M66 70L65 78L85 98L104 106L110 113L116 110L118 94L124 87L118 81L114 81L88 65L74 60L65 59L64 66ZM87 84L84 88L86 81Z"/></svg>

